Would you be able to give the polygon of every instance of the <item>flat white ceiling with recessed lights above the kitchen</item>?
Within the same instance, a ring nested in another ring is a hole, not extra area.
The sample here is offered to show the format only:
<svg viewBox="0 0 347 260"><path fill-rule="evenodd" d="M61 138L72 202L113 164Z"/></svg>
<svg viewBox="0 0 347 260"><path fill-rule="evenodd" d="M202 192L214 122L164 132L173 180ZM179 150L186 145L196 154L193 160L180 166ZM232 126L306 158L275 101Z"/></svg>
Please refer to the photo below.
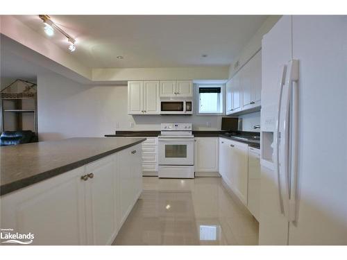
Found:
<svg viewBox="0 0 347 260"><path fill-rule="evenodd" d="M36 15L16 16L44 34ZM52 15L76 38L71 55L90 68L228 65L262 26L266 15ZM56 32L52 42L67 50ZM202 55L208 55L203 58ZM119 60L117 56L124 56Z"/></svg>

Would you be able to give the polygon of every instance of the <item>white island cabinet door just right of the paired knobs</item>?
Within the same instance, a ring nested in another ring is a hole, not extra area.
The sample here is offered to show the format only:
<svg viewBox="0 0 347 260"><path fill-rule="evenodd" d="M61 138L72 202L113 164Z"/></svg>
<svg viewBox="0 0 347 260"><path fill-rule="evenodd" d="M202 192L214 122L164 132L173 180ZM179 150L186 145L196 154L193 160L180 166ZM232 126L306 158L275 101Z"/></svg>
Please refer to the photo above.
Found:
<svg viewBox="0 0 347 260"><path fill-rule="evenodd" d="M117 233L115 216L115 155L87 164L87 238L90 245L109 245Z"/></svg>

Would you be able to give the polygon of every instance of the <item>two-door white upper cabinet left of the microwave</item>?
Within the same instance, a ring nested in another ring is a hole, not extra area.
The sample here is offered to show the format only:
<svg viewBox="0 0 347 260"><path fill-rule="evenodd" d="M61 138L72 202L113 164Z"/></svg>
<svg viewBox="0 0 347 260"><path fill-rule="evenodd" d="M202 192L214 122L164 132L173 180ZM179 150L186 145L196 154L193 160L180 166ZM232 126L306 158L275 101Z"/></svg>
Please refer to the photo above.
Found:
<svg viewBox="0 0 347 260"><path fill-rule="evenodd" d="M128 82L128 114L160 114L159 81Z"/></svg>

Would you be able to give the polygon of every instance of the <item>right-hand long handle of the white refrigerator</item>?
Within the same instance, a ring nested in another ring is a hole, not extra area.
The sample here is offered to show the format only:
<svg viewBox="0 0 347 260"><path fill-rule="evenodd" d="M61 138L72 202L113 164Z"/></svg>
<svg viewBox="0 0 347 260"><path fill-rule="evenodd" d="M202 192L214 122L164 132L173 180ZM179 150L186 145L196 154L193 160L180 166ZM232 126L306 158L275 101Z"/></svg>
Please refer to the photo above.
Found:
<svg viewBox="0 0 347 260"><path fill-rule="evenodd" d="M298 177L298 60L289 62L289 87L291 88L291 164L289 186L289 221L296 220L296 189ZM291 84L290 84L291 83ZM289 174L289 171L288 173Z"/></svg>

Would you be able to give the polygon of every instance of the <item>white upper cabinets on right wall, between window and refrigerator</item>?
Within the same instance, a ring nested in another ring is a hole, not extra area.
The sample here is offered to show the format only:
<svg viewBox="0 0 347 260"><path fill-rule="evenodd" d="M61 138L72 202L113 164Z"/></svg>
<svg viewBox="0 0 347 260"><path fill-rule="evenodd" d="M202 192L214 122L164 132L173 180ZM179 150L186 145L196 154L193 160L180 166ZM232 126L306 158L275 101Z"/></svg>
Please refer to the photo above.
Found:
<svg viewBox="0 0 347 260"><path fill-rule="evenodd" d="M257 52L226 84L226 114L260 107L262 99L262 53Z"/></svg>

